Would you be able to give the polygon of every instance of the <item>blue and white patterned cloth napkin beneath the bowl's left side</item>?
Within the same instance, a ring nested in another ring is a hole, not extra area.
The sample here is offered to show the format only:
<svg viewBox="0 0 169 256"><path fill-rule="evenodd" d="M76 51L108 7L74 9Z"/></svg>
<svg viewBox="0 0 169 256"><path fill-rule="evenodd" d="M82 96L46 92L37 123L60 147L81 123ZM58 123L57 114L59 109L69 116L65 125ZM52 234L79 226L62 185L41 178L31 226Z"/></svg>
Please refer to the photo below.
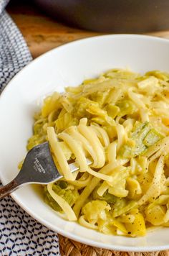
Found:
<svg viewBox="0 0 169 256"><path fill-rule="evenodd" d="M0 0L0 93L11 78L32 60L19 29ZM55 232L32 219L7 196L0 201L0 255L60 255Z"/></svg>

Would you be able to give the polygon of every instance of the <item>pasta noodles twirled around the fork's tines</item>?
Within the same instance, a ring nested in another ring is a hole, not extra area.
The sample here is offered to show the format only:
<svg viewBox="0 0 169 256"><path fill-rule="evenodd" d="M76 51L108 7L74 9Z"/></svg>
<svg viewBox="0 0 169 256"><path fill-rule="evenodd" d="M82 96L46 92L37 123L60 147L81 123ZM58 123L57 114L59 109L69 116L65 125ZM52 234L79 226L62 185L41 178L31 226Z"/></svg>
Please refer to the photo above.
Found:
<svg viewBox="0 0 169 256"><path fill-rule="evenodd" d="M100 168L105 165L105 147L108 145L109 138L105 130L100 127L87 127L86 122L86 119L82 119L77 127L69 127L69 129L58 135L55 134L53 127L47 127L49 145L52 147L54 157L59 163L64 177L67 178L67 180L74 180L64 152L62 148L59 147L59 141L57 141L58 137L65 142L72 151L72 155L74 155L76 163L79 165L80 172L88 172L97 178L112 182L110 175L98 173L87 165L86 152L92 157L92 167ZM105 147L102 146L100 142L101 139Z"/></svg>

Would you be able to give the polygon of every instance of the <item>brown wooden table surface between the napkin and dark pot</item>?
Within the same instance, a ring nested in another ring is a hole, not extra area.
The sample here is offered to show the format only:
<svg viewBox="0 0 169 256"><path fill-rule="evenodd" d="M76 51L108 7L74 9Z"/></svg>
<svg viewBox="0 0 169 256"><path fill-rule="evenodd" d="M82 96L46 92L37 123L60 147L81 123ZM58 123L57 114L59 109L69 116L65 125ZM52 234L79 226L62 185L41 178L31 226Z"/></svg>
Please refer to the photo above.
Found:
<svg viewBox="0 0 169 256"><path fill-rule="evenodd" d="M7 11L24 35L33 58L66 42L102 35L98 32L76 29L61 24L57 19L47 17L32 0L11 0L7 6ZM150 32L147 35L169 39L169 28L168 31Z"/></svg>

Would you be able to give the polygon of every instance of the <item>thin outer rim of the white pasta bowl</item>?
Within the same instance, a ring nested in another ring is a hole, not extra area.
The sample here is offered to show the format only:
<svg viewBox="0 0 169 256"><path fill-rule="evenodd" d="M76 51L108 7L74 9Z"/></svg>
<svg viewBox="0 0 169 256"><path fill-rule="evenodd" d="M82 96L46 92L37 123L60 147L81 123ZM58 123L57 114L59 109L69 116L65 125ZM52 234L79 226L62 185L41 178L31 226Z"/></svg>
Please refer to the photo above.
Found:
<svg viewBox="0 0 169 256"><path fill-rule="evenodd" d="M115 35L99 35L99 36L94 36L94 37L87 37L84 39L80 39L80 40L74 40L72 42L67 42L64 45L60 45L59 47L54 47L54 49L49 50L47 52L44 52L42 55L40 55L39 57L35 58L34 60L32 60L28 65L26 65L24 68L22 68L19 73L17 73L12 79L11 81L9 81L9 83L5 86L4 90L1 92L0 94L0 101L1 101L1 97L4 96L4 93L6 93L7 88L9 88L9 86L11 86L12 82L18 77L21 76L22 72L29 67L29 65L32 65L32 63L36 63L38 62L40 59L43 59L44 57L46 57L47 55L52 54L52 52L54 52L55 50L60 50L64 47L69 47L69 45L72 44L79 44L79 42L87 42L90 40L97 40L100 39L100 37L102 38L115 38L115 37L128 37L128 38L140 38L142 40L153 40L153 41L160 41L160 42L166 42L168 43L168 47L169 47L169 40L166 38L160 38L160 37L154 37L154 36L150 36L150 35L139 35L139 34L115 34ZM6 182L4 181L4 178L1 177L1 172L0 172L0 180L1 183L3 185L6 185ZM103 249L107 249L107 250L120 250L122 252L152 252L152 251L161 251L161 250L168 250L169 249L169 244L168 245L159 245L159 246L143 246L143 247L131 247L131 246L122 246L122 245L112 245L111 246L109 244L104 244L102 243L102 246L100 246L100 242L95 242L92 241L90 239L86 239L86 238L81 238L81 237L77 237L77 235L72 234L71 232L67 232L64 231L58 227L54 228L54 226L52 226L52 224L49 224L47 221L45 221L42 217L37 216L37 214L34 214L32 211L29 210L29 208L27 206L25 206L20 200L19 197L16 195L15 192L11 193L11 197L14 199L14 201L16 201L16 204L19 204L19 206L21 206L22 209L24 209L24 211L26 211L26 213L28 213L30 216L32 216L33 219L36 219L37 221L39 221L41 224L44 224L45 227L48 227L49 229L52 229L54 232L57 232L59 234L62 234L64 237L67 237L69 239L73 239L77 242L80 242L82 244L87 244L90 245L92 247L100 247ZM118 247L118 248L117 248ZM119 249L120 248L120 249Z"/></svg>

